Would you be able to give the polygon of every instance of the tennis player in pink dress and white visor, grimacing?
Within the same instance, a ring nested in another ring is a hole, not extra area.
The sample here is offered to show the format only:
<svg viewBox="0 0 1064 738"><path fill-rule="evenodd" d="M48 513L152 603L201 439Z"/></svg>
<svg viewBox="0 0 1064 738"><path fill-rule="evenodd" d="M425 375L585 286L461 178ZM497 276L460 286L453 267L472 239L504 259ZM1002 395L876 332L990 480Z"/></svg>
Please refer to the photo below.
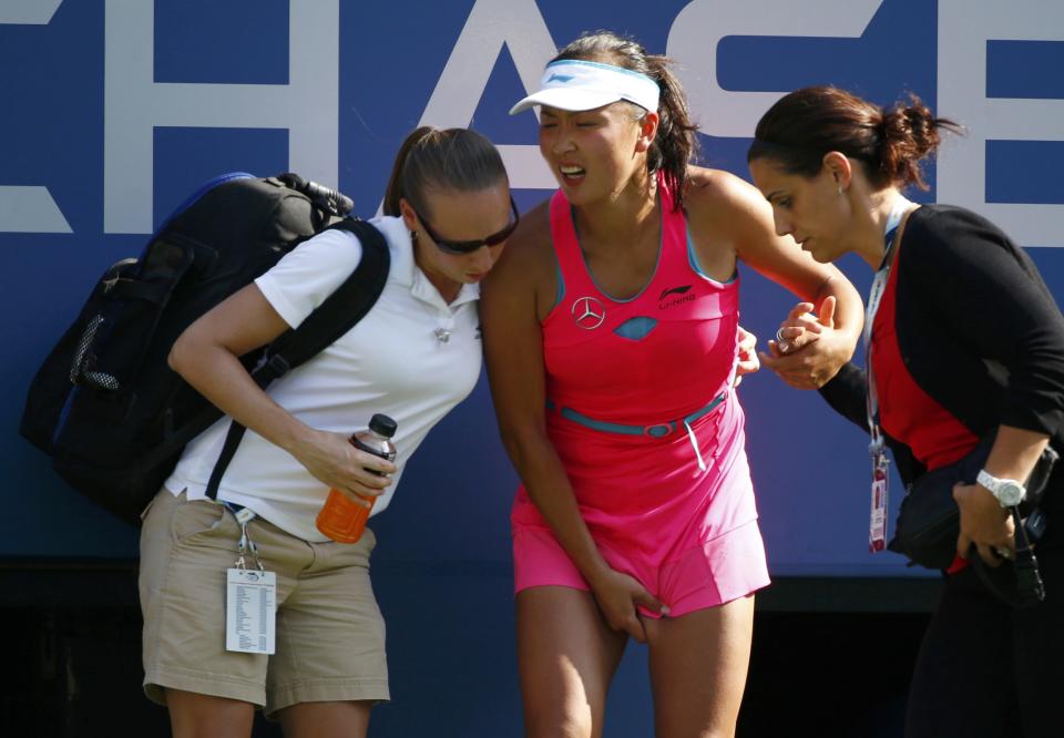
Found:
<svg viewBox="0 0 1064 738"><path fill-rule="evenodd" d="M753 593L769 581L735 391L749 358L737 263L817 306L827 328L790 368L814 385L851 356L861 301L775 235L750 185L689 166L695 129L663 58L581 37L512 112L536 105L560 188L522 218L481 309L522 481L511 519L526 732L602 735L632 636L649 646L657 736L729 736Z"/></svg>

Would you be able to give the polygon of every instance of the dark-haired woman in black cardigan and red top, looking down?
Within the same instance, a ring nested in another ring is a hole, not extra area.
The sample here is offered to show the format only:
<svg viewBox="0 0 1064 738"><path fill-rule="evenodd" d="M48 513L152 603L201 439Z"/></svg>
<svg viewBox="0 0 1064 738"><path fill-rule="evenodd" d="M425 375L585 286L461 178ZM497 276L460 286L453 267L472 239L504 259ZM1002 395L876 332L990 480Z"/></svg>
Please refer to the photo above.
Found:
<svg viewBox="0 0 1064 738"><path fill-rule="evenodd" d="M878 423L869 422L866 372L852 363L821 387L828 402L863 429L881 429L907 484L994 438L980 483L953 491L958 558L918 658L907 736L1062 736L1060 470L1036 545L1044 601L1015 608L988 582L1006 575L1015 556L1010 494L1047 442L1064 449L1064 318L1027 255L993 224L901 195L910 184L925 188L919 163L938 147L940 130L955 127L915 99L883 110L838 89L807 88L765 114L748 160L777 233L819 262L852 252L877 270L866 331ZM831 307L812 316L811 305L799 305L763 363L808 386L797 352L831 330Z"/></svg>

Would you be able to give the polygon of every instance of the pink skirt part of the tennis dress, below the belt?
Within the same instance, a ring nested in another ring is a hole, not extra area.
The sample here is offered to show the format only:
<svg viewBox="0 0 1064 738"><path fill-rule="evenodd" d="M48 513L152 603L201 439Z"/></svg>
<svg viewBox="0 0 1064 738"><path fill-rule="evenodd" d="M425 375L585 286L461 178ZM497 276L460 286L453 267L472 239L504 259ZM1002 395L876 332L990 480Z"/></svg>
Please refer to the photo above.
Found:
<svg viewBox="0 0 1064 738"><path fill-rule="evenodd" d="M743 427L734 392L690 433L681 426L661 439L549 414L551 440L602 556L667 605L671 617L769 584ZM510 520L516 592L590 588L523 486Z"/></svg>

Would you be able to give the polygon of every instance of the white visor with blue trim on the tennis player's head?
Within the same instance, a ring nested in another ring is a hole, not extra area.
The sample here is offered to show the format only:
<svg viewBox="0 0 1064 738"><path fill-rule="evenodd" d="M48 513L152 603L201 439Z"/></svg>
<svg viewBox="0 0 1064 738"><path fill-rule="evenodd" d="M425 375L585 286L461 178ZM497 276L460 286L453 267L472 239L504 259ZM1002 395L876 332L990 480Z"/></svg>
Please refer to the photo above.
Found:
<svg viewBox="0 0 1064 738"><path fill-rule="evenodd" d="M640 107L657 112L661 91L657 82L646 74L598 62L563 59L543 70L540 91L510 109L514 115L533 105L559 110L594 110L618 100L627 100Z"/></svg>

